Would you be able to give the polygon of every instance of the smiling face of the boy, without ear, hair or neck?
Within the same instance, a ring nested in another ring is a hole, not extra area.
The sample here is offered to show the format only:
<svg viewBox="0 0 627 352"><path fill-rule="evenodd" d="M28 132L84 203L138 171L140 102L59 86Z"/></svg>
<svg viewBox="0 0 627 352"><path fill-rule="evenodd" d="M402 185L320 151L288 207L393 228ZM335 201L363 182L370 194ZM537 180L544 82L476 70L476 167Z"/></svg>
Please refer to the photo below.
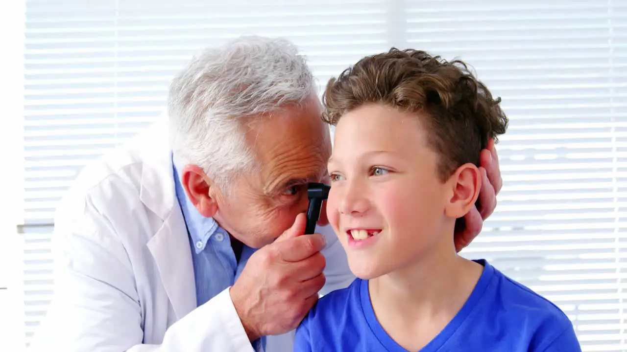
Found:
<svg viewBox="0 0 627 352"><path fill-rule="evenodd" d="M455 252L455 218L446 215L454 187L438 178L420 117L371 104L345 113L335 128L327 214L363 279Z"/></svg>

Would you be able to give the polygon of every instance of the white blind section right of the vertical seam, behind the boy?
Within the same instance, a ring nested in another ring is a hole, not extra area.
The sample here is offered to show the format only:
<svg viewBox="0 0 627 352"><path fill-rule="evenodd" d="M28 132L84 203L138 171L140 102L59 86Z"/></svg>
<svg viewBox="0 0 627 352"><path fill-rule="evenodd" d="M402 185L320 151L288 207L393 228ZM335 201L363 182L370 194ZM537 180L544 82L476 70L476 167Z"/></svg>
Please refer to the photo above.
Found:
<svg viewBox="0 0 627 352"><path fill-rule="evenodd" d="M511 118L504 187L466 257L627 351L627 1L413 1L408 46L472 63Z"/></svg>

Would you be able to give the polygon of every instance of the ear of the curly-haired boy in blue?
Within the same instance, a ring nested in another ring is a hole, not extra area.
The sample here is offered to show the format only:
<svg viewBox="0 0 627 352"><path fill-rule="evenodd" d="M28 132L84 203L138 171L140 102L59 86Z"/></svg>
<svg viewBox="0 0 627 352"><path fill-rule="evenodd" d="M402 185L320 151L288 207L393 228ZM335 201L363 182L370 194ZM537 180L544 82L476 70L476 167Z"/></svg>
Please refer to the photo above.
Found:
<svg viewBox="0 0 627 352"><path fill-rule="evenodd" d="M448 179L451 197L445 207L448 217L460 218L475 205L481 189L481 173L472 163L465 163Z"/></svg>

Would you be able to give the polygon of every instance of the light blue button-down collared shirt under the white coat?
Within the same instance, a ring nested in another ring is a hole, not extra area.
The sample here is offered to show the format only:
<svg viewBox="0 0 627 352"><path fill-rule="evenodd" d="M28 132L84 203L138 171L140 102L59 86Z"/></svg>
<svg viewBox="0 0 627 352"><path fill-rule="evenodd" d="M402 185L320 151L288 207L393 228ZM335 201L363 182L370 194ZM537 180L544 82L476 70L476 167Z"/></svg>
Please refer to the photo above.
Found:
<svg viewBox="0 0 627 352"><path fill-rule="evenodd" d="M174 165L174 160L172 160L172 166L176 198L179 200L185 219L192 252L196 281L196 306L201 306L227 287L233 286L248 258L256 250L243 245L240 262L238 262L231 247L228 232L221 228L216 220L204 217L196 210L192 202L187 199L181 184L181 175ZM264 345L265 338L261 338L253 343L253 348L256 351L263 351Z"/></svg>

